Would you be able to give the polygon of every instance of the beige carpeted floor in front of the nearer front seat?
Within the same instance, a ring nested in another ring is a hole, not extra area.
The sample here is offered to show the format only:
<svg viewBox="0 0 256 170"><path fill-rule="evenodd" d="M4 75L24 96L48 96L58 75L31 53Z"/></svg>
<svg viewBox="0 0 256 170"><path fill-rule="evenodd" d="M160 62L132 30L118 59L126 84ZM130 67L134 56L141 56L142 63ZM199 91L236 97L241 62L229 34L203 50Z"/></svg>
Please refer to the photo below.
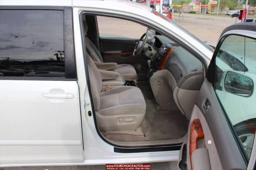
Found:
<svg viewBox="0 0 256 170"><path fill-rule="evenodd" d="M119 141L163 140L183 137L188 129L188 119L179 110L161 109L154 100L150 85L146 81L138 81L137 86L141 89L146 101L146 115L141 125L145 136L106 134L106 137Z"/></svg>

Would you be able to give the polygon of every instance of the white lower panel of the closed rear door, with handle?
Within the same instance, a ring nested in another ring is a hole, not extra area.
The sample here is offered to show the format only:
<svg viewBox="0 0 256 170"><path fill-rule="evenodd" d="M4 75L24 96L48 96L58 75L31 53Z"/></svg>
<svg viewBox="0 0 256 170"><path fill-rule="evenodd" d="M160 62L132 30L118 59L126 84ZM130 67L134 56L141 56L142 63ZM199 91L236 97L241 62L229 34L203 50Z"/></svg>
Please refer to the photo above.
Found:
<svg viewBox="0 0 256 170"><path fill-rule="evenodd" d="M1 165L82 162L79 108L76 81L0 80Z"/></svg>

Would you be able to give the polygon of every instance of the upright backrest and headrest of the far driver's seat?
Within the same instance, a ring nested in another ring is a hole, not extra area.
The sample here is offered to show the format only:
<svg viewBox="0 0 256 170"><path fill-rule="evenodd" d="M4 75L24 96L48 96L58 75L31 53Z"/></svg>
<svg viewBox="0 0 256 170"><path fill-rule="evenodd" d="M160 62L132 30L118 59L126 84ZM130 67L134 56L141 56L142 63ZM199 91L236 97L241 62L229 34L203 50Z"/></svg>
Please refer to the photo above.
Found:
<svg viewBox="0 0 256 170"><path fill-rule="evenodd" d="M100 51L92 43L92 41L87 37L88 26L85 20L83 20L83 25L84 25L84 32L85 32L84 39L85 39L85 45L86 45L86 52L92 57L93 61L103 63L103 59L100 54Z"/></svg>

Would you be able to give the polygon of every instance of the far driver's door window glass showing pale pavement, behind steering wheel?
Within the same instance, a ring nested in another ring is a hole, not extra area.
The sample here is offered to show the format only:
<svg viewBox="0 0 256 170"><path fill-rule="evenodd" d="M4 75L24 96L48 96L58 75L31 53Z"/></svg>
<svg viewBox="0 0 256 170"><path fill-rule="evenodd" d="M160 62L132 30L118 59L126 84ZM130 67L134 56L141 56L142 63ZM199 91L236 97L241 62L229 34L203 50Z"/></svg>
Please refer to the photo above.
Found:
<svg viewBox="0 0 256 170"><path fill-rule="evenodd" d="M120 18L97 16L97 21L100 37L139 39L147 31L145 26Z"/></svg>

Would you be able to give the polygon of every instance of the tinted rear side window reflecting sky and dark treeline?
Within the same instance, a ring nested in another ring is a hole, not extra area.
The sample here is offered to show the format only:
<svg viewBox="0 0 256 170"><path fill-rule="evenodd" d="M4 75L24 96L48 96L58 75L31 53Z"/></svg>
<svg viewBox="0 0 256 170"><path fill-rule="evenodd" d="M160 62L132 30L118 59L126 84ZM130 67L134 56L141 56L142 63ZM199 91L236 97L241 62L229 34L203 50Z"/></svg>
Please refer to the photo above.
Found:
<svg viewBox="0 0 256 170"><path fill-rule="evenodd" d="M65 77L63 11L0 10L0 76Z"/></svg>

